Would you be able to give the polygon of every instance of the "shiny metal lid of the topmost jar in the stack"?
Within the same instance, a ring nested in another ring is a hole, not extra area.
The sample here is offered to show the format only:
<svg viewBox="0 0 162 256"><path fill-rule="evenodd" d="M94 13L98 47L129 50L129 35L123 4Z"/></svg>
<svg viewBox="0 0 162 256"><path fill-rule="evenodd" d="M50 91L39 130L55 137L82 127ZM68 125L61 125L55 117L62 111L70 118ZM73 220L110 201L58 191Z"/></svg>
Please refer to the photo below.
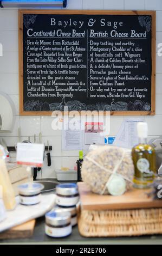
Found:
<svg viewBox="0 0 162 256"><path fill-rule="evenodd" d="M74 196L78 194L78 187L75 183L63 183L56 186L56 194L61 196Z"/></svg>

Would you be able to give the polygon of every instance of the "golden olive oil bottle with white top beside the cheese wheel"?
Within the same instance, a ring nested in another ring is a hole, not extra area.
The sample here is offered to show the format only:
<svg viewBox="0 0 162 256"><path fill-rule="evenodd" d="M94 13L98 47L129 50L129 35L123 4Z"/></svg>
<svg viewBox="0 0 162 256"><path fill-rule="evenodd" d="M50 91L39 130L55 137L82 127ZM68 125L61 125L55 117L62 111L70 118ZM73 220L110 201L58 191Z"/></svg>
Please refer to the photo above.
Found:
<svg viewBox="0 0 162 256"><path fill-rule="evenodd" d="M147 144L147 123L137 124L139 144L132 149L134 163L134 187L147 188L154 180L156 173L155 150Z"/></svg>

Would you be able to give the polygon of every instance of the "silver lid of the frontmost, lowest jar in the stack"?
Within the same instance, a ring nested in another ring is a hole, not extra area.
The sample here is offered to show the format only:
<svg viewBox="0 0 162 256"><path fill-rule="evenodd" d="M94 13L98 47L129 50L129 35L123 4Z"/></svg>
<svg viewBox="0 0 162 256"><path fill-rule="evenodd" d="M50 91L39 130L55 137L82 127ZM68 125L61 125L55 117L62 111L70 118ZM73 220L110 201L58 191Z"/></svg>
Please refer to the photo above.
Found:
<svg viewBox="0 0 162 256"><path fill-rule="evenodd" d="M53 226L62 226L71 223L71 215L70 212L52 210L47 212L45 215L46 217L46 224L53 225Z"/></svg>

